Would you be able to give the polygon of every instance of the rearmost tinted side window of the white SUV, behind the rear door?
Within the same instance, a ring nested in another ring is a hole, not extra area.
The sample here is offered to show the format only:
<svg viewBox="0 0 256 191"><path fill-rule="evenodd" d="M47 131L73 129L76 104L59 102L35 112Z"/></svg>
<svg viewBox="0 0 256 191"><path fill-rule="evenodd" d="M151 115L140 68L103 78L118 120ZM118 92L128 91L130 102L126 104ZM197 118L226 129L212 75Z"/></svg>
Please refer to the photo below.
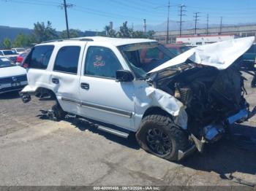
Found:
<svg viewBox="0 0 256 191"><path fill-rule="evenodd" d="M53 49L53 45L34 47L25 63L31 69L47 69Z"/></svg>

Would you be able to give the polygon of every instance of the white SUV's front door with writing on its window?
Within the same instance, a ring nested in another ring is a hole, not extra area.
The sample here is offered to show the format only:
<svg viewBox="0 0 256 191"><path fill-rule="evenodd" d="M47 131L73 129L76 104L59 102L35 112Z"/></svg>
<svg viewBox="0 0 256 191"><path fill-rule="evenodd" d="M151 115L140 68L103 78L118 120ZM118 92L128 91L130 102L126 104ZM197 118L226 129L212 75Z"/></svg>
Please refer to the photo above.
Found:
<svg viewBox="0 0 256 191"><path fill-rule="evenodd" d="M116 82L116 70L128 69L116 47L88 42L80 77L80 115L131 128L134 82Z"/></svg>

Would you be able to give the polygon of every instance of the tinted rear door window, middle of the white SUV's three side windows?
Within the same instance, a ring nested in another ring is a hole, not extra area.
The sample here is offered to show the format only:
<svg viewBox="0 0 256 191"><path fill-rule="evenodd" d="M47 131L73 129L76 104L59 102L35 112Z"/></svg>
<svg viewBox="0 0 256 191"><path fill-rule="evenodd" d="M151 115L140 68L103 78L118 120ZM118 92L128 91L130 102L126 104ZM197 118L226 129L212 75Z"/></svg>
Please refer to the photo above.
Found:
<svg viewBox="0 0 256 191"><path fill-rule="evenodd" d="M80 47L61 47L56 56L53 70L77 74L79 55Z"/></svg>

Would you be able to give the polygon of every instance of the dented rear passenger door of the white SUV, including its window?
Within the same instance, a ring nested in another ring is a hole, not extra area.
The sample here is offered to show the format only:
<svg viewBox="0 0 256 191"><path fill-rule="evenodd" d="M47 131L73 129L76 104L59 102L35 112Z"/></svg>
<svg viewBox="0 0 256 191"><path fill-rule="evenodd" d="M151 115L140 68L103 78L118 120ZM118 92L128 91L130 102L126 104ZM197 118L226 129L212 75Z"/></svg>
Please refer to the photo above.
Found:
<svg viewBox="0 0 256 191"><path fill-rule="evenodd" d="M62 109L72 114L78 114L79 109L80 63L84 47L78 42L56 47L56 59L49 77Z"/></svg>

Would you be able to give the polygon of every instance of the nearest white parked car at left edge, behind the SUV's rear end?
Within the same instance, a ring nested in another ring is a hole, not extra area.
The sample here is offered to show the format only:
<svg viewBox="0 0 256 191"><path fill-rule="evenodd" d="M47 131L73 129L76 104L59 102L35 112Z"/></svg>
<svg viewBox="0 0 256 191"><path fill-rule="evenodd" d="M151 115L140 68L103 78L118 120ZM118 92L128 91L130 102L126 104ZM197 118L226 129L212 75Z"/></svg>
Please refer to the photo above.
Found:
<svg viewBox="0 0 256 191"><path fill-rule="evenodd" d="M0 94L22 90L27 84L26 69L0 56Z"/></svg>

